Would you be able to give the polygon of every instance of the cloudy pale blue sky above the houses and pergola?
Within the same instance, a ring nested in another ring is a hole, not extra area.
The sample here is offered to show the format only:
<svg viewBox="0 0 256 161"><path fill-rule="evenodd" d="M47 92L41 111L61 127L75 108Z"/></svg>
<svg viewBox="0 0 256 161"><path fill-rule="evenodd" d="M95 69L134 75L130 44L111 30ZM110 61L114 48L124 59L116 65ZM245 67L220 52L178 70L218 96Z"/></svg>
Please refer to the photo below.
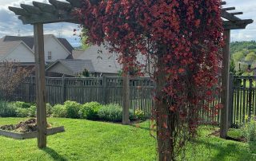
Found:
<svg viewBox="0 0 256 161"><path fill-rule="evenodd" d="M37 2L48 2L47 0L34 0ZM65 0L60 0L65 1ZM8 6L19 6L31 4L32 0L0 0L0 37L6 35L21 36L33 35L33 26L22 25L22 21L15 16ZM246 29L236 29L231 31L231 41L256 41L256 0L226 0L224 7L235 6L235 12L242 11L244 14L238 15L238 18L254 19L254 23L247 26ZM234 10L232 11L234 12ZM54 23L44 25L45 34L54 34L56 37L63 37L70 41L74 47L81 45L78 36L74 36L74 29L78 25L71 23Z"/></svg>

